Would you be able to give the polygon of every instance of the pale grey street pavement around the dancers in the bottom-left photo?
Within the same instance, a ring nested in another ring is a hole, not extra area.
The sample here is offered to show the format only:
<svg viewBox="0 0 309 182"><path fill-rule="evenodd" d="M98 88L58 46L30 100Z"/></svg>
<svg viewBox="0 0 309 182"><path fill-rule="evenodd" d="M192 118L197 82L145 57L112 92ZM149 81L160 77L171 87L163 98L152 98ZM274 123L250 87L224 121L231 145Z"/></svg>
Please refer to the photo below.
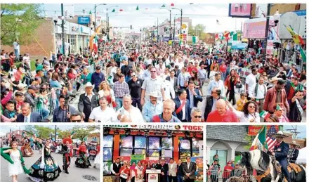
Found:
<svg viewBox="0 0 309 182"><path fill-rule="evenodd" d="M32 157L24 157L25 165L29 169L34 162L36 162L41 155L38 150L34 150L34 155ZM58 162L58 165L62 169L63 164L63 156L60 154L53 153L55 161ZM91 160L91 167L88 169L81 169L75 167L74 162L76 157L72 157L71 162L72 165L69 168L69 173L66 174L64 171L61 172L60 176L55 179L55 182L59 181L100 181L100 169L93 168L93 160ZM8 162L1 157L1 182L9 182L12 181L11 177L8 176ZM29 176L26 174L20 174L18 176L18 181L28 182L31 181Z"/></svg>

